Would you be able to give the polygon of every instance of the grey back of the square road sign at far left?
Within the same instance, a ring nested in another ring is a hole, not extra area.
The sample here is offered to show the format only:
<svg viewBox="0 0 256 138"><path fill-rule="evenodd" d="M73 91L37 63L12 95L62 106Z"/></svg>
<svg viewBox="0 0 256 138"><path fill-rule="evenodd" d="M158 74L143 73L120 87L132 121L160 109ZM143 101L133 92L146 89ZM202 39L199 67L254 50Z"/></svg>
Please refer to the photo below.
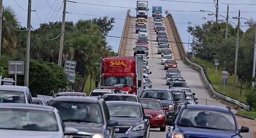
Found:
<svg viewBox="0 0 256 138"><path fill-rule="evenodd" d="M8 73L23 75L24 74L24 61L9 61Z"/></svg>

